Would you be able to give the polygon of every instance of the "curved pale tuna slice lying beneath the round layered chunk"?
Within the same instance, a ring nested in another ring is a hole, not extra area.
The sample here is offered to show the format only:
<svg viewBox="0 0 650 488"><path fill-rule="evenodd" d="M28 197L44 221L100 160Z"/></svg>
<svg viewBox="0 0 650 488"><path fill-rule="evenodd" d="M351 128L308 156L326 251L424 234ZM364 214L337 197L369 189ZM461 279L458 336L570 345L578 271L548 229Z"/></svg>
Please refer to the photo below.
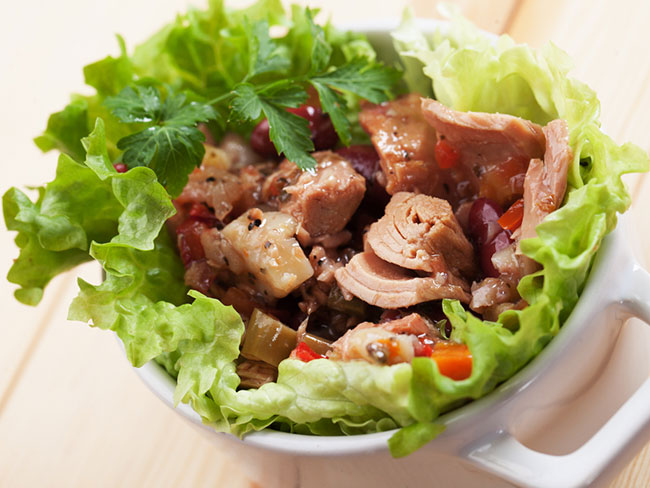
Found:
<svg viewBox="0 0 650 488"><path fill-rule="evenodd" d="M442 298L470 301L469 286L452 273L420 277L371 251L356 254L344 268L336 270L335 277L344 292L381 308L410 307Z"/></svg>

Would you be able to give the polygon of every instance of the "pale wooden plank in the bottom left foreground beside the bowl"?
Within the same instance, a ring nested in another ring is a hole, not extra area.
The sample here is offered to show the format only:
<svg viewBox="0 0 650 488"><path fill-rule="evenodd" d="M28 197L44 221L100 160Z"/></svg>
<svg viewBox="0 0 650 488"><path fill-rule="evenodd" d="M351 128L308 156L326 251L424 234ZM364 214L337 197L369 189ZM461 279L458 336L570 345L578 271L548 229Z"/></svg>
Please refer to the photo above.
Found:
<svg viewBox="0 0 650 488"><path fill-rule="evenodd" d="M62 290L69 303L75 287ZM111 333L54 318L0 417L0 486L249 486L146 389Z"/></svg>

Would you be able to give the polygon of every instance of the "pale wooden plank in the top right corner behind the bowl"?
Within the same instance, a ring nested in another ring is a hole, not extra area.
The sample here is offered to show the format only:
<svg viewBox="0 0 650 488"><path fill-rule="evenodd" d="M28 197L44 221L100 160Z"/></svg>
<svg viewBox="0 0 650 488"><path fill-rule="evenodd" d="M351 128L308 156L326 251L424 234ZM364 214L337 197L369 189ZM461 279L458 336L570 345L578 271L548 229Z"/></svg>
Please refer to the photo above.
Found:
<svg viewBox="0 0 650 488"><path fill-rule="evenodd" d="M649 151L648 18L650 3L641 0L615 5L607 0L528 0L508 33L537 47L552 40L567 51L574 60L572 75L598 93L605 131L619 143L633 141ZM626 181L634 187L639 178Z"/></svg>

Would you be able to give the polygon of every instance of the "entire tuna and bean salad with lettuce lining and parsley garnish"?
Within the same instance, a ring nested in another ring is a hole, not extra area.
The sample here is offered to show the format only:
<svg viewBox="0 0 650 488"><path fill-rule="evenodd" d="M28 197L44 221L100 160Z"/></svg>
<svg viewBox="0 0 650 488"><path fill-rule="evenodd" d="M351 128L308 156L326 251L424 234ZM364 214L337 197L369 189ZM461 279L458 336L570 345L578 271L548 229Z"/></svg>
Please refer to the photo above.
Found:
<svg viewBox="0 0 650 488"><path fill-rule="evenodd" d="M69 317L110 329L175 401L243 435L400 428L511 377L557 334L647 155L599 129L566 55L463 19L393 53L276 0L212 1L84 68L36 144L35 201L3 197L35 305L98 261Z"/></svg>

